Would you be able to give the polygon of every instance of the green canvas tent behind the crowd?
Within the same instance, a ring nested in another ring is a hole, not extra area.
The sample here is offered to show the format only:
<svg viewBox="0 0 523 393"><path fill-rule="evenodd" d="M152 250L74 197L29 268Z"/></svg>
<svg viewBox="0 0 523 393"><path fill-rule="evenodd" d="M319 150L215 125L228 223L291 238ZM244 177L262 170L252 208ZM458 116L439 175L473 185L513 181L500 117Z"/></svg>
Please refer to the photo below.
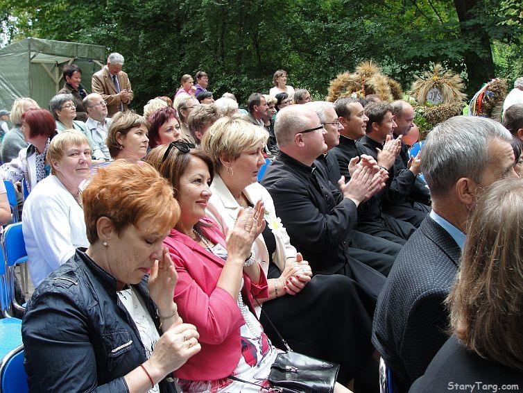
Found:
<svg viewBox="0 0 523 393"><path fill-rule="evenodd" d="M31 97L42 108L62 81L62 67L74 63L82 70L82 85L91 92L91 77L105 65L105 47L26 38L0 49L0 109L10 110L13 101Z"/></svg>

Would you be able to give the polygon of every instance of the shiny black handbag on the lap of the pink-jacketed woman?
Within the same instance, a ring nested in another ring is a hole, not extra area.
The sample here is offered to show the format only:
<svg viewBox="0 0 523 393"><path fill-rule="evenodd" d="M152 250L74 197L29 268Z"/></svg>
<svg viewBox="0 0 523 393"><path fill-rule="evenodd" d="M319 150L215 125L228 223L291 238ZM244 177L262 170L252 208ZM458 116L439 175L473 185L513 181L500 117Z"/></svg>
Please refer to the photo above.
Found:
<svg viewBox="0 0 523 393"><path fill-rule="evenodd" d="M268 381L272 387L265 387L264 389L269 392L281 393L334 392L334 385L336 384L336 378L338 378L340 365L294 352L282 335L280 335L280 332L274 326L273 321L267 316L263 308L261 308L261 312L264 313L266 319L287 349L286 352L278 353L276 356L276 360L273 365L271 365L271 372L268 375ZM229 376L229 378L234 381L257 385L234 376Z"/></svg>

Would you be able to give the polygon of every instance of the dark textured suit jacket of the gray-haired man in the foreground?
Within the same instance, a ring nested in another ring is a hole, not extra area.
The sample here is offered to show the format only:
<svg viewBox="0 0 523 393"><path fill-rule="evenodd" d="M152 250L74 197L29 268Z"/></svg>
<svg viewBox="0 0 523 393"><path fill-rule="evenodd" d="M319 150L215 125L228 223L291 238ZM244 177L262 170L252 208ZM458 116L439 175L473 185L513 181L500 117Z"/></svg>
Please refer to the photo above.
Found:
<svg viewBox="0 0 523 393"><path fill-rule="evenodd" d="M372 343L391 367L400 392L422 376L447 340L443 303L454 283L461 249L427 216L398 254L379 295Z"/></svg>

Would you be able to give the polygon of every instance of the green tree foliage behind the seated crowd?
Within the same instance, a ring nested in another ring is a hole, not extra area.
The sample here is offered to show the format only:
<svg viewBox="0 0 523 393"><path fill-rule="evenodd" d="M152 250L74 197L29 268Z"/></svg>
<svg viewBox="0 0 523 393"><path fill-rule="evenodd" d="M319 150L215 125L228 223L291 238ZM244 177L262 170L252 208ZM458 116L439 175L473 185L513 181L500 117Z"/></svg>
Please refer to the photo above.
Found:
<svg viewBox="0 0 523 393"><path fill-rule="evenodd" d="M173 96L182 74L198 69L215 96L229 91L242 103L268 92L280 68L320 99L336 74L366 59L406 90L441 62L472 94L521 71L522 19L520 0L0 0L4 44L33 36L122 53L137 110Z"/></svg>

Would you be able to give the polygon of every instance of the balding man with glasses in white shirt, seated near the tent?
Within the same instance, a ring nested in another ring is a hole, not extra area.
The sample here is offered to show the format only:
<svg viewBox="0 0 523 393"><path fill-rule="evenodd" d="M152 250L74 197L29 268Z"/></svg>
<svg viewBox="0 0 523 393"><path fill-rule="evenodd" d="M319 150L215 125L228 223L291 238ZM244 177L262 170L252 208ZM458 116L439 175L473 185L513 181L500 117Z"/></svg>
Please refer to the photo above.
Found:
<svg viewBox="0 0 523 393"><path fill-rule="evenodd" d="M83 99L83 107L87 111L85 126L93 142L100 148L106 160L111 159L109 149L105 144L111 119L107 117L107 103L98 93L89 94Z"/></svg>

